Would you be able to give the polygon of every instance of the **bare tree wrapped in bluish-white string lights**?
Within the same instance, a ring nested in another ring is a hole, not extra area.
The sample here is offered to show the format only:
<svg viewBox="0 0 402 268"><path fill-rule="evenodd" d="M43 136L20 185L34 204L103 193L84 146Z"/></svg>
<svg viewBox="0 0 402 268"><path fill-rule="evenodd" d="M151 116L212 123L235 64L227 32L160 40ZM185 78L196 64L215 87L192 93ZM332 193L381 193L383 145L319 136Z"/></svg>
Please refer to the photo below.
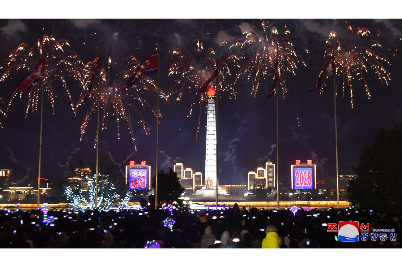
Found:
<svg viewBox="0 0 402 268"><path fill-rule="evenodd" d="M96 208L95 196L96 196L96 176L87 181L87 192L85 193L82 186L78 185L76 190L73 190L70 186L66 186L64 193L67 196L68 204L75 210L93 210ZM119 194L116 192L115 184L109 181L109 176L103 181L102 187L98 187L98 210L108 210L113 202L116 202L119 198ZM126 199L126 198L125 198ZM125 200L124 199L124 200Z"/></svg>

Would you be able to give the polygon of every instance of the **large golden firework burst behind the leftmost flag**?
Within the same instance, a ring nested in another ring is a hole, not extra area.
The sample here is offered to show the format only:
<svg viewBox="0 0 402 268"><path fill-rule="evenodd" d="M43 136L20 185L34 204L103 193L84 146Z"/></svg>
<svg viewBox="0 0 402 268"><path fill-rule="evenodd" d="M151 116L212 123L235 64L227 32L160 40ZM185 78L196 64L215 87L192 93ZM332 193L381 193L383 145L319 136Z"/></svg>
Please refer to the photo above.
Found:
<svg viewBox="0 0 402 268"><path fill-rule="evenodd" d="M70 44L64 39L56 41L52 35L43 35L42 41L38 40L37 49L30 47L25 43L19 45L17 49L11 52L8 60L6 60L0 67L0 69L6 68L0 78L0 82L5 81L7 78L12 79L13 74L17 73L20 69L31 71L43 56L46 57L45 75L43 78L45 85L44 91L50 99L53 112L56 97L53 84L54 81L58 80L62 84L64 97L70 101L70 105L75 114L75 105L71 98L70 89L66 83L66 77L74 78L81 87L84 87L82 80L84 63L78 57L76 52L70 50ZM66 76L66 74L68 76ZM37 110L39 92L41 90L40 85L41 83L35 83L28 93L29 99L25 118L29 111ZM22 97L18 88L12 94L10 102L8 103L7 111L10 109L10 105L16 96L19 96L20 98Z"/></svg>

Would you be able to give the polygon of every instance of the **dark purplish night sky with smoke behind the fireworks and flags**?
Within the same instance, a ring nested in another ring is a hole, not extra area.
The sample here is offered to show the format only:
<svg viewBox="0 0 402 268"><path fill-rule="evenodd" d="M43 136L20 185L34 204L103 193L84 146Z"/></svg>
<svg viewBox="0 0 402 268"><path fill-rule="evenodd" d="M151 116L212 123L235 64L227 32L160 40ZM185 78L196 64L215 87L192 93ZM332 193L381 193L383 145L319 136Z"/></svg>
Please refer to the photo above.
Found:
<svg viewBox="0 0 402 268"><path fill-rule="evenodd" d="M90 15L92 17L92 15ZM174 76L168 76L171 52L180 47L199 61L197 41L204 48L215 48L220 41L229 44L244 38L242 30L253 28L262 34L260 19L0 19L0 62L7 60L12 50L19 44L27 43L36 47L43 35L53 35L56 40L66 39L84 63L93 62L98 56L98 47L102 47L102 64L107 65L111 58L109 72L118 74L121 62L134 56L142 62L155 52L160 44L160 89L174 91L179 85ZM68 17L66 15L65 17ZM82 18L85 16L83 15ZM88 16L89 17L89 16ZM101 17L101 16L100 16ZM105 16L108 17L108 16ZM120 16L115 16L120 17ZM164 16L160 16L164 17ZM173 16L174 17L174 16ZM183 17L183 16L177 16ZM190 17L190 16L189 16ZM204 17L199 15L197 17ZM216 16L219 17L219 16ZM242 15L238 14L238 17ZM254 17L254 16L250 16ZM284 16L286 17L286 16ZM313 16L310 16L313 17ZM12 17L11 17L12 18ZM156 17L158 18L158 17ZM334 97L333 76L326 80L322 93L314 94L308 90L314 85L320 70L328 62L324 57L328 49L326 40L330 31L336 31L340 40L348 37L347 29L367 28L371 32L368 39L381 43L382 48L375 49L384 55L390 64L384 67L390 74L388 85L381 85L378 76L372 70L364 74L369 86L371 98L367 98L362 80L352 80L353 108L349 87L345 97L338 86L337 124L338 124L338 160L339 174L351 174L352 166L359 163L359 153L366 143L371 143L380 128L390 128L394 122L402 122L400 100L402 68L400 47L402 21L400 19L264 19L268 29L278 30L285 26L289 29L289 39L293 49L306 63L297 63L295 75L286 72L287 93L285 99L281 93L279 99L279 180L290 187L290 165L295 159L306 163L312 159L317 164L317 179L334 179L335 132L334 132ZM43 29L42 29L43 28ZM247 48L245 48L247 49ZM219 60L224 61L229 49L228 44L219 45ZM233 75L238 68L233 64ZM1 69L1 74L4 69ZM10 78L0 82L0 107L7 110L8 102L16 89L18 81L27 74L21 70ZM157 74L151 74L155 83ZM127 78L126 78L127 79ZM339 76L336 76L339 80ZM127 79L128 81L128 79ZM246 184L248 171L263 167L266 161L276 163L276 105L274 98L266 99L271 91L272 75L262 82L256 95L251 93L252 83L243 79L234 88L237 98L230 98L222 92L218 103L218 167L219 184ZM67 81L74 104L81 93L80 85L73 80ZM87 130L80 141L80 127L88 110L88 105L78 107L74 116L68 101L63 96L59 84L53 87L55 111L45 97L43 116L43 148L41 177L65 179L72 173L72 167L94 166L96 161L95 132L96 117L93 115ZM180 101L173 93L168 103L161 99L159 127L159 169L167 171L176 162L186 168L204 173L205 168L205 103L201 105L201 124L197 134L199 120L198 89L185 90ZM281 91L280 91L281 92ZM195 105L191 117L188 117L191 98ZM156 105L156 97L146 95L146 101ZM7 116L0 115L0 168L12 169L13 181L21 186L31 183L38 175L40 110L28 113L25 109L28 97L16 97L10 105ZM122 164L124 161L147 161L155 175L156 163L156 117L150 109L142 110L144 120L149 125L150 135L146 135L138 117L131 114L131 124L136 139L137 152L131 141L131 134L125 122L120 123L120 140L117 136L115 118L100 134L100 159L107 165ZM123 179L122 173L119 175Z"/></svg>

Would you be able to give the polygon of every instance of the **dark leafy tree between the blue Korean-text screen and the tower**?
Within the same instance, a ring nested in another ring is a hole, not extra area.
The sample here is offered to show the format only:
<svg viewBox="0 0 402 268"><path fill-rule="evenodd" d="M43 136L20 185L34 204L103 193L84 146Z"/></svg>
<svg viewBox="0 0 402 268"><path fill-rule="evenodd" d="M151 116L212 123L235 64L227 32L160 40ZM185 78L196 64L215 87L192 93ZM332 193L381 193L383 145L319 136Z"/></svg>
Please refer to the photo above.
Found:
<svg viewBox="0 0 402 268"><path fill-rule="evenodd" d="M152 187L155 188L155 177L152 179ZM184 192L184 188L178 182L177 174L171 168L168 173L163 170L158 172L158 203L169 203L176 201L182 205L183 201L179 199ZM149 198L151 204L155 204L155 195Z"/></svg>

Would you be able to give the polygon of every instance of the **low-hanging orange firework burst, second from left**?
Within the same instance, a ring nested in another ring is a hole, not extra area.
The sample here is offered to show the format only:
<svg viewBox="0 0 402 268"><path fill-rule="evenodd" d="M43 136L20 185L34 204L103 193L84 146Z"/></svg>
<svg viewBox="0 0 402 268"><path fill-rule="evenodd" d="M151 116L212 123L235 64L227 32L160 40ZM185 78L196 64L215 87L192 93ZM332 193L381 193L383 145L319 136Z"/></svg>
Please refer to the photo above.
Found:
<svg viewBox="0 0 402 268"><path fill-rule="evenodd" d="M155 85L154 81L148 76L141 76L132 87L125 88L125 86L127 85L126 78L130 78L133 75L141 62L138 62L134 57L131 56L125 60L122 66L119 67L120 70L123 71L121 71L119 74L110 74L111 62L111 58L109 58L107 70L102 68L100 72L100 77L102 79L100 83L100 111L102 118L102 131L104 129L107 129L107 126L115 122L117 124L117 136L118 139L120 139L120 122L125 121L128 124L131 139L135 144L134 132L131 126L131 113L133 113L138 118L138 123L141 124L144 128L145 134L149 135L150 129L148 124L146 123L146 120L144 119L142 111L145 111L147 108L149 108L156 116L156 107L149 100L156 101L158 88ZM85 133L86 127L88 126L91 115L96 114L99 85L99 76L96 76L96 79L92 85L92 90L88 94L87 87L93 74L94 62L88 62L88 64L85 65L84 70L86 71L84 78L86 88L83 89L81 92L77 108L86 102L87 95L88 101L90 102L90 107L81 125L81 139ZM159 95L160 98L167 99L166 95L161 90L159 91ZM162 115L159 114L159 116L161 117ZM108 119L111 117L114 117L115 120L112 122L108 122ZM135 150L137 150L136 146Z"/></svg>

